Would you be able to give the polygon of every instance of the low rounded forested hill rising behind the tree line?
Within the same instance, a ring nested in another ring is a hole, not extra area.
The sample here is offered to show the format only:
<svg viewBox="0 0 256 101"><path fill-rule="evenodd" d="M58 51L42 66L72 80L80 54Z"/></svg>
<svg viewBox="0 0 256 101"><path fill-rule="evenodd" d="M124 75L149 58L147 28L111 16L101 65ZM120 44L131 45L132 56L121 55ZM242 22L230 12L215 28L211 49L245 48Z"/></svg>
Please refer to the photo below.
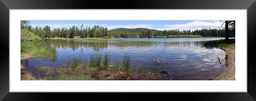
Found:
<svg viewBox="0 0 256 101"><path fill-rule="evenodd" d="M128 32L128 33L139 33L139 32L152 31L153 33L158 32L158 30L152 30L148 28L117 28L109 30L109 32Z"/></svg>

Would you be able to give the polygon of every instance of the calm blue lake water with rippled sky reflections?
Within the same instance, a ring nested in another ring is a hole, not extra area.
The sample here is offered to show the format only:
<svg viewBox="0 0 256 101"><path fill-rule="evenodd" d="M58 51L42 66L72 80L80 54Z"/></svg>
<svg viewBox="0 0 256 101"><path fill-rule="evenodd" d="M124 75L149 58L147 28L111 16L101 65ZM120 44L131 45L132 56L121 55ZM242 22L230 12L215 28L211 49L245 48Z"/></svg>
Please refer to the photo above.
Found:
<svg viewBox="0 0 256 101"><path fill-rule="evenodd" d="M125 54L131 55L132 67L142 65L153 67L153 59L158 57L168 61L158 69L167 69L172 73L172 80L209 80L220 74L226 67L225 61L218 62L218 54L225 58L225 51L217 48L206 48L202 43L221 38L119 38L120 41L85 41L43 39L41 43L57 50L54 60L31 58L21 60L21 64L35 73L38 66L60 67L72 57L89 59L91 54L111 56L110 64L121 61Z"/></svg>

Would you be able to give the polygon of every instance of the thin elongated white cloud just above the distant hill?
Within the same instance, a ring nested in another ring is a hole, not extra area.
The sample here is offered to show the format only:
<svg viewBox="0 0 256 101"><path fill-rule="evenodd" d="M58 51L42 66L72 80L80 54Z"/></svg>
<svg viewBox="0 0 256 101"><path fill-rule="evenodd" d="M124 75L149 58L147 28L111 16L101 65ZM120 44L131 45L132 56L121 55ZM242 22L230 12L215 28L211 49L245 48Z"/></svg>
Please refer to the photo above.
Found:
<svg viewBox="0 0 256 101"><path fill-rule="evenodd" d="M152 28L153 25L149 24L137 24L137 25L115 25L115 26L107 26L109 30L115 28Z"/></svg>

